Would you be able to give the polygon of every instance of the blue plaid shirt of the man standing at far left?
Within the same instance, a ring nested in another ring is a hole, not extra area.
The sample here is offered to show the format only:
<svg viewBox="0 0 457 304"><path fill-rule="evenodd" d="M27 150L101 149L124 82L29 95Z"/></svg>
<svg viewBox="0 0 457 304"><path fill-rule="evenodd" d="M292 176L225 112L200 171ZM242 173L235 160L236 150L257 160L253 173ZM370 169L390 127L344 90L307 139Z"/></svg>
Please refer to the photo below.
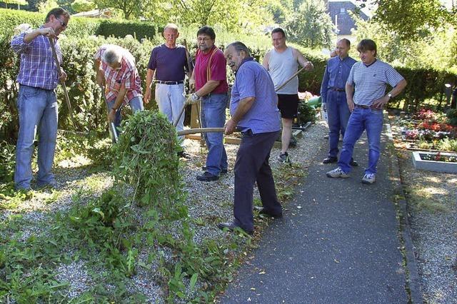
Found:
<svg viewBox="0 0 457 304"><path fill-rule="evenodd" d="M41 26L43 28L43 26ZM59 83L59 70L52 56L47 36L39 35L28 44L24 42L27 32L14 36L11 49L21 55L21 66L16 81L24 86L52 90ZM57 39L54 39L57 58L62 62L62 52Z"/></svg>

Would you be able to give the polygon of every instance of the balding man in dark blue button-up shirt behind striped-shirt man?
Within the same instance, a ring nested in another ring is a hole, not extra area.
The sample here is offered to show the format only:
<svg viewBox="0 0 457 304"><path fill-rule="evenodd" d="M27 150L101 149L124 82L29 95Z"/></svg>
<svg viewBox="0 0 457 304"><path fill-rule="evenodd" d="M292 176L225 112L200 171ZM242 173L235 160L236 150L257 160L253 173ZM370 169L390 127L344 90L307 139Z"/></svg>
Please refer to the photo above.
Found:
<svg viewBox="0 0 457 304"><path fill-rule="evenodd" d="M328 157L322 163L336 163L338 161L338 140L341 135L344 137L348 124L349 111L346 101L346 80L349 72L356 60L348 56L351 49L351 41L341 39L336 44L336 54L328 59L326 71L323 74L321 85L321 96L323 110L327 111L328 118ZM351 161L351 166L357 166L355 161Z"/></svg>

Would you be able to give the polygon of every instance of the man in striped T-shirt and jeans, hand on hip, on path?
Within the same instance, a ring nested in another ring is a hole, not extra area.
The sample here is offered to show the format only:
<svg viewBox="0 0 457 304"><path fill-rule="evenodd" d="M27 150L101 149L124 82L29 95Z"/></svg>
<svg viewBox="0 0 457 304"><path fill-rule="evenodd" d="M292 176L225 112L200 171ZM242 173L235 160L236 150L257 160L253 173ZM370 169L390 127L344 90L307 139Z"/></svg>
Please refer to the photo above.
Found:
<svg viewBox="0 0 457 304"><path fill-rule="evenodd" d="M383 129L383 106L397 96L406 87L406 80L385 62L376 59L376 44L371 39L363 39L357 46L362 62L352 66L346 81L346 98L351 117L343 138L343 150L338 161L338 168L328 171L331 178L348 178L351 171L353 148L363 130L368 137L368 167L362 183L376 181ZM386 86L392 90L386 94ZM355 93L354 93L355 90Z"/></svg>

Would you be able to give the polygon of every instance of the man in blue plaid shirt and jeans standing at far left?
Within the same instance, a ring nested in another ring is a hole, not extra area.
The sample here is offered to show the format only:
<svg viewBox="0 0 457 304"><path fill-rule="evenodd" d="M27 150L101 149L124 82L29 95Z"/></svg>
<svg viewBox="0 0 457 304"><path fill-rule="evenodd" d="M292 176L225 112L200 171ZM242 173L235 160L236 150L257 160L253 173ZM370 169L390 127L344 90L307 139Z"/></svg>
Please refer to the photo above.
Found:
<svg viewBox="0 0 457 304"><path fill-rule="evenodd" d="M57 57L62 54L57 36L65 31L70 15L61 8L51 9L39 29L24 31L11 40L11 49L21 56L21 66L16 81L19 83L17 107L19 113L19 136L16 145L16 189L30 190L32 180L31 156L34 138L39 131L38 175L39 187L56 187L51 172L57 137L57 98L54 89L59 80L65 80L63 70L56 66L49 38L53 38Z"/></svg>

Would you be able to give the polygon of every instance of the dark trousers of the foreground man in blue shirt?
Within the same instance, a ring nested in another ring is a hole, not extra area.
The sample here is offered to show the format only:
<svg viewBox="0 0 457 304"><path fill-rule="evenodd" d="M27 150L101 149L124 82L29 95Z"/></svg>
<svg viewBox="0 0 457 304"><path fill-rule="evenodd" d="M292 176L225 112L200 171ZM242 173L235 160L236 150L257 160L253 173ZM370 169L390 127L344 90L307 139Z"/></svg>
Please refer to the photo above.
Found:
<svg viewBox="0 0 457 304"><path fill-rule="evenodd" d="M270 151L279 131L253 134L243 133L235 163L235 224L247 231L254 228L253 188L257 182L263 208L268 213L282 213L271 173Z"/></svg>

